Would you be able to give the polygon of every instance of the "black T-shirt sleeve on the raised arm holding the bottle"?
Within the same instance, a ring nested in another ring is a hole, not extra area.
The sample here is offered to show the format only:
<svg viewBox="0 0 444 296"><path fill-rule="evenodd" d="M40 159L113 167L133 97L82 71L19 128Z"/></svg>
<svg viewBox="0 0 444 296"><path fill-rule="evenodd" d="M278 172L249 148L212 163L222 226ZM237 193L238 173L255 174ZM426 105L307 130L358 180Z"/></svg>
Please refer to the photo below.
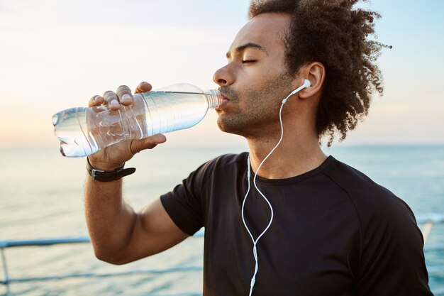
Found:
<svg viewBox="0 0 444 296"><path fill-rule="evenodd" d="M163 207L179 229L190 236L204 226L204 194L206 163L192 172L182 184L160 197Z"/></svg>

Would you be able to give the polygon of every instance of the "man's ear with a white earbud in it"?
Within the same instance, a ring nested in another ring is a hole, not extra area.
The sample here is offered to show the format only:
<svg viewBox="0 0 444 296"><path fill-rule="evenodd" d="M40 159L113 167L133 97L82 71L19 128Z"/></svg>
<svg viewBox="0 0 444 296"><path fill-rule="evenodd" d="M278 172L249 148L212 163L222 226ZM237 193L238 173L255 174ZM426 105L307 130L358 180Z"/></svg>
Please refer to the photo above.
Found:
<svg viewBox="0 0 444 296"><path fill-rule="evenodd" d="M315 95L320 96L325 77L326 68L321 62L311 62L311 64L302 66L299 69L298 81L301 80L301 82L299 82L301 84L304 83L304 79L308 79L311 82L311 86L302 89L299 92L299 97L301 99L306 99Z"/></svg>

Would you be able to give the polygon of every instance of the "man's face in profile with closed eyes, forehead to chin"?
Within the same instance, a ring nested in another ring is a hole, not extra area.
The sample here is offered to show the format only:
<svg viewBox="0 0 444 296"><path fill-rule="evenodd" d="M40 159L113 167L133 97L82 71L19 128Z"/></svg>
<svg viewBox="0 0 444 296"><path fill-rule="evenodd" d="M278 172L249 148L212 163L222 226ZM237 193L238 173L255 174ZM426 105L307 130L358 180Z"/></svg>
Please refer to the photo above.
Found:
<svg viewBox="0 0 444 296"><path fill-rule="evenodd" d="M222 131L249 137L279 128L280 102L292 92L294 82L285 67L288 26L289 16L265 13L236 35L228 64L213 77L226 97L216 109Z"/></svg>

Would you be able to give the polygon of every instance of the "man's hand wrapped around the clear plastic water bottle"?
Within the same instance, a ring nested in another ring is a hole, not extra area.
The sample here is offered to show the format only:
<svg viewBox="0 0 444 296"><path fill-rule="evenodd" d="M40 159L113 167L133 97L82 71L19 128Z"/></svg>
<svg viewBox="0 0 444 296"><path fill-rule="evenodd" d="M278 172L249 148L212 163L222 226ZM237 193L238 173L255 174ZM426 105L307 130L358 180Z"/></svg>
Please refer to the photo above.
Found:
<svg viewBox="0 0 444 296"><path fill-rule="evenodd" d="M148 82L141 82L135 89L136 94L149 92L152 89ZM94 96L89 100L89 107L108 105L112 111L118 111L131 106L134 103L131 89L126 85L118 87L116 92L105 92L103 97ZM145 149L152 149L157 144L164 143L167 140L164 135L158 133L148 138L130 139L121 141L115 145L105 147L94 154L89 155L89 163L94 168L100 170L115 170L120 168L123 163L133 158L135 153Z"/></svg>

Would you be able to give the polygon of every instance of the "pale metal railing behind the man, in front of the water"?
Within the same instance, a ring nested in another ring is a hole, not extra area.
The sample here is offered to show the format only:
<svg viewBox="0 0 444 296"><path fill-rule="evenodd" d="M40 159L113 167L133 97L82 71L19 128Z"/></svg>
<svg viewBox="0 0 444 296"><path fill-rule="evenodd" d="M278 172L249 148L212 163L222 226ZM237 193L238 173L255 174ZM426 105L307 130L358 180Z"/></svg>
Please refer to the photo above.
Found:
<svg viewBox="0 0 444 296"><path fill-rule="evenodd" d="M418 225L423 225L421 232L424 238L424 252L437 252L444 251L444 243L436 244L433 246L426 245L426 241L431 234L433 226L435 224L444 224L444 214L431 214L428 216L419 217ZM193 237L203 237L204 231L197 232ZM89 237L80 236L75 238L66 238L66 239L35 239L35 240L23 240L23 241L0 241L0 253L1 253L1 262L3 265L3 273L4 278L0 279L0 285L6 286L6 295L10 295L9 285L11 283L26 283L33 281L47 281L47 280L64 280L67 278L108 278L115 276L125 276L125 275L156 275L156 274L164 274L164 273L184 273L189 271L200 271L202 270L202 266L182 266L176 268L165 268L165 269L146 269L146 270L131 270L125 272L116 272L116 273L75 273L75 274L66 274L66 275L52 275L52 276L40 276L40 277L32 277L32 278L10 278L8 263L6 261L6 248L13 247L26 247L26 246L52 246L59 244L72 244L72 243L89 243ZM444 278L444 265L438 265L433 267L428 267L429 274L438 274L442 275ZM438 290L434 290L433 293L435 296L444 296L444 287L438 288ZM201 292L184 292L179 294L171 294L171 295L162 295L162 296L197 296L201 295ZM155 296L155 295L152 295Z"/></svg>

